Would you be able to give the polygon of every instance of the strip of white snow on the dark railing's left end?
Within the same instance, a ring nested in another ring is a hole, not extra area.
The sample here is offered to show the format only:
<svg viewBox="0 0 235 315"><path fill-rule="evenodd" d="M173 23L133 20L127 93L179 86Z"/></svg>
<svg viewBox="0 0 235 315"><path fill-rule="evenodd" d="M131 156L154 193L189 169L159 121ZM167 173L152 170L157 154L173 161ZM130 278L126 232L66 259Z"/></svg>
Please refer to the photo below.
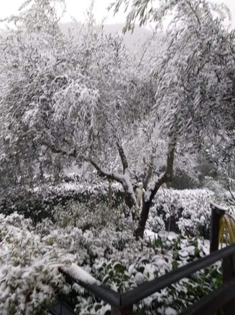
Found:
<svg viewBox="0 0 235 315"><path fill-rule="evenodd" d="M79 267L78 265L74 263L71 264L70 267L63 267L61 269L67 274L69 274L73 279L76 279L85 284L98 284L98 285L101 284L98 280L92 277L83 268Z"/></svg>

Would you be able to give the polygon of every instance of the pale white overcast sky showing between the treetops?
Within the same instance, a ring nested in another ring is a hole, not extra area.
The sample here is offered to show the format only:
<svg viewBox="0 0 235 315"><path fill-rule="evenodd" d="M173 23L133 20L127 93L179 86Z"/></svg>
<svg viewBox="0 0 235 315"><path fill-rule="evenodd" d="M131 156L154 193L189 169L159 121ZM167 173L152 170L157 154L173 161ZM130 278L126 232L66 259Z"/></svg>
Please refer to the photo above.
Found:
<svg viewBox="0 0 235 315"><path fill-rule="evenodd" d="M106 16L105 24L124 23L125 15L119 12L113 16L112 12L107 12L106 8L110 2L114 0L96 0L94 13L97 21L101 21ZM224 2L231 10L232 25L235 27L235 0L214 0L215 2ZM17 13L17 9L23 0L0 0L0 18ZM74 16L79 21L84 21L84 13L89 6L90 0L66 0L67 2L67 15L63 18L62 22L68 22L70 16Z"/></svg>

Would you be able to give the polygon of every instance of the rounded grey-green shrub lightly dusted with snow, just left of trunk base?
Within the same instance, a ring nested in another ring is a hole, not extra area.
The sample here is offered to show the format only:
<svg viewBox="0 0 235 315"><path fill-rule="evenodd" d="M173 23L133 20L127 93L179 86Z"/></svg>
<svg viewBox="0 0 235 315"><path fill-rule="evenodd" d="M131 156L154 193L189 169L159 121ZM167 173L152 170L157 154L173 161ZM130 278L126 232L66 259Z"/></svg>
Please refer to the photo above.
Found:
<svg viewBox="0 0 235 315"><path fill-rule="evenodd" d="M72 253L77 251L79 257L83 257L80 266L92 265L99 258L126 255L128 260L128 248L134 243L142 244L142 241L136 242L135 224L131 218L124 217L121 206L110 210L107 205L95 201L86 204L73 202L66 211L61 207L55 208L53 220L44 219L37 224L35 231L58 247Z"/></svg>

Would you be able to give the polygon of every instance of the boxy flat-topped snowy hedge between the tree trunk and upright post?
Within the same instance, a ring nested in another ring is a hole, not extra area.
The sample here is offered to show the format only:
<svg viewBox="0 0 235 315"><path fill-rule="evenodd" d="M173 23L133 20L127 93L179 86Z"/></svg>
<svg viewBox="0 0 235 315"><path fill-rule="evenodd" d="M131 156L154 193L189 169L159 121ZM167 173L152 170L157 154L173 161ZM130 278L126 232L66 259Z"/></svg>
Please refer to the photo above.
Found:
<svg viewBox="0 0 235 315"><path fill-rule="evenodd" d="M163 220L167 230L208 237L210 202L215 198L209 189L159 189L148 226L158 232Z"/></svg>

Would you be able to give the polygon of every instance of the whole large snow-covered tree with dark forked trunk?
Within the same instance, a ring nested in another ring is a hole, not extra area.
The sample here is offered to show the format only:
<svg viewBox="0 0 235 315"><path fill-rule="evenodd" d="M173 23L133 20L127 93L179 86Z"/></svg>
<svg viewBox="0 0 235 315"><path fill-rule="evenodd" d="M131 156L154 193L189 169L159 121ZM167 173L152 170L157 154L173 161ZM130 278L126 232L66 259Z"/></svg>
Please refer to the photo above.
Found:
<svg viewBox="0 0 235 315"><path fill-rule="evenodd" d="M137 16L140 23L148 18L159 23L174 12L168 45L153 71L147 58L136 64L118 36L105 37L92 23L83 41L67 39L47 0L17 17L17 31L1 47L4 160L29 157L31 166L40 154L59 155L64 165L88 162L98 175L123 186L126 204L139 219L137 236L143 236L157 190L172 179L178 154L221 144L234 124L234 34L223 27L222 8L194 0L163 1L156 10L148 4L134 2L127 28ZM34 15L38 26L31 28ZM136 138L147 190L140 216L130 150ZM159 143L166 143L165 171L151 182Z"/></svg>

